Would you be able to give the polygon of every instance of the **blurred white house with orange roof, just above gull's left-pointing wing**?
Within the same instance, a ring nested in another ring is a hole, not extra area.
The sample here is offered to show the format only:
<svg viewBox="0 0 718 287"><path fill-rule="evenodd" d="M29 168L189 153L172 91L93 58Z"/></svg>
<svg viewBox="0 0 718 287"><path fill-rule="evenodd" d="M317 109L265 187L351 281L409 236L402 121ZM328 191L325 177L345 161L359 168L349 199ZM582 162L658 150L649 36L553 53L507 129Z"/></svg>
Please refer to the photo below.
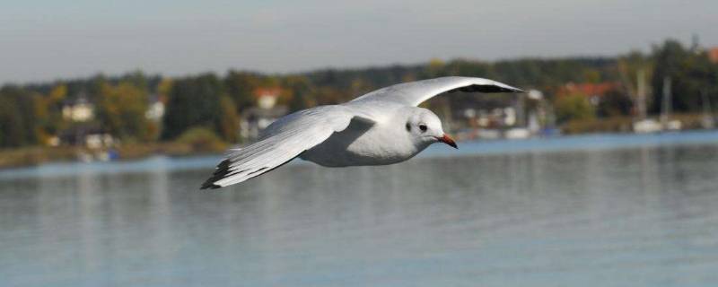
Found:
<svg viewBox="0 0 718 287"><path fill-rule="evenodd" d="M245 110L241 115L240 135L245 139L256 139L259 132L272 124L277 118L284 117L289 108L276 105L282 90L279 88L259 88L254 91L257 107Z"/></svg>

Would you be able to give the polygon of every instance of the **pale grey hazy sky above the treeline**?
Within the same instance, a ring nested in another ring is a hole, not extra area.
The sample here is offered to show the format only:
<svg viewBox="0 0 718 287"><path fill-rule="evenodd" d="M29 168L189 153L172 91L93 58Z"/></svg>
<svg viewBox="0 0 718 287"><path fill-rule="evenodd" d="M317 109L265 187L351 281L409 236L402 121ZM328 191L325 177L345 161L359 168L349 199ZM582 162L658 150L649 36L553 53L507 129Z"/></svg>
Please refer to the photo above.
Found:
<svg viewBox="0 0 718 287"><path fill-rule="evenodd" d="M2 1L0 83L718 45L716 0Z"/></svg>

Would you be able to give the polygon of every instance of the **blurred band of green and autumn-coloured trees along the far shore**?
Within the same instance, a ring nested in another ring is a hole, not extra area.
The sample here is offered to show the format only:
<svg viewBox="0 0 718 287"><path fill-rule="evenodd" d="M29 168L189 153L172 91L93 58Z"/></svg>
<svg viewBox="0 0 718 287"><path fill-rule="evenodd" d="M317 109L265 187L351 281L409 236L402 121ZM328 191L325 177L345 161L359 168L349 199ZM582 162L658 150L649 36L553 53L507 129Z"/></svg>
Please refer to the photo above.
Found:
<svg viewBox="0 0 718 287"><path fill-rule="evenodd" d="M670 77L673 109L697 112L707 100L718 104L718 65L705 50L686 48L668 40L644 55L562 59L523 58L484 62L432 60L420 65L390 65L362 69L323 69L302 74L258 74L229 71L168 78L141 72L118 77L0 88L0 147L48 143L78 123L63 117L67 102L84 97L94 105L91 125L125 142L171 141L193 127L209 130L224 141L236 142L241 114L255 106L258 88L279 88L279 104L290 110L351 100L367 91L393 83L445 75L479 76L544 91L556 101L563 121L574 117L609 117L635 113L636 74L644 71L649 84L649 113L661 109L663 79ZM566 83L620 83L599 105L586 97L556 99ZM145 117L152 100L166 103L155 121ZM575 109L575 110L574 110ZM588 116L587 116L588 115ZM88 125L88 123L83 123Z"/></svg>

